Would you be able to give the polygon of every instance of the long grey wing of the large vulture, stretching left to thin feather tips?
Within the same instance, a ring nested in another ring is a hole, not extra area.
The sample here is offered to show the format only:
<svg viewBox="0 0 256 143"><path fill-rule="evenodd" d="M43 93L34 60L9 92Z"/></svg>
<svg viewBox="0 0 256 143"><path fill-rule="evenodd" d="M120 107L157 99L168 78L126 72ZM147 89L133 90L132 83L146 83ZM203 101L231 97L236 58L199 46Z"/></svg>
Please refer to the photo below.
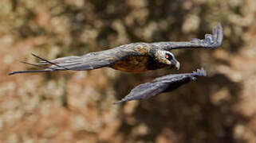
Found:
<svg viewBox="0 0 256 143"><path fill-rule="evenodd" d="M96 68L108 67L128 56L147 55L148 52L141 50L145 47L147 47L147 45L144 43L124 44L120 45L119 47L100 52L90 52L84 56L66 56L57 58L55 60L45 60L40 56L32 54L41 61L37 64L30 64L26 62L23 63L45 69L10 72L9 75L26 72L53 72L59 70L87 71Z"/></svg>

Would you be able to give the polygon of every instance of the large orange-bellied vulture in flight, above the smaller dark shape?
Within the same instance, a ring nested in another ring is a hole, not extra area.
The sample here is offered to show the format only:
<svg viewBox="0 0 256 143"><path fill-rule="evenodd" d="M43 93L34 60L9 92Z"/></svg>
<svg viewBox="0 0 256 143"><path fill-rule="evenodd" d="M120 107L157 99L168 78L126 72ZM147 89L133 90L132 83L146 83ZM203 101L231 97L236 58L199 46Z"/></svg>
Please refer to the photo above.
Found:
<svg viewBox="0 0 256 143"><path fill-rule="evenodd" d="M206 34L203 40L167 41L156 43L132 43L100 52L89 52L84 56L66 56L55 60L45 60L32 54L41 61L31 64L42 70L10 72L9 75L27 72L88 71L96 68L113 68L123 72L146 72L159 68L177 68L179 61L170 52L179 48L218 48L223 43L223 27L216 25L212 34ZM23 62L25 64L30 64Z"/></svg>

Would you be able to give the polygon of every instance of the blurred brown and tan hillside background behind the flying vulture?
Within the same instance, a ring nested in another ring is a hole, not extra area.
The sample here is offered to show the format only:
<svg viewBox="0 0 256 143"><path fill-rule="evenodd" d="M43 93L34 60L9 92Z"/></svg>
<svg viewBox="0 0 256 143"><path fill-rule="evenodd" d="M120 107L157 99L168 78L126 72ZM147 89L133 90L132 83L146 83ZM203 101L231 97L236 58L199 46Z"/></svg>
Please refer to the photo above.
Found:
<svg viewBox="0 0 256 143"><path fill-rule="evenodd" d="M1 0L0 142L256 141L255 0ZM190 41L221 22L223 46L173 50L181 70L12 75L19 61L132 42ZM143 101L112 102L140 83L205 68L207 77Z"/></svg>

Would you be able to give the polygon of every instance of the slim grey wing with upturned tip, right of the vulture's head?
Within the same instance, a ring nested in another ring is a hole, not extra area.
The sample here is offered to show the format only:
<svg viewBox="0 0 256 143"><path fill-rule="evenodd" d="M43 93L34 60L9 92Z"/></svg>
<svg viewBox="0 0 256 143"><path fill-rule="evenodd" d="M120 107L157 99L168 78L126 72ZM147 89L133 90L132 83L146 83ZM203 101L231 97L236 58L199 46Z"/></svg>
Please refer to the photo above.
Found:
<svg viewBox="0 0 256 143"><path fill-rule="evenodd" d="M212 34L205 34L203 40L193 38L191 41L156 42L152 44L167 51L178 48L218 48L223 44L223 26L220 23L216 25Z"/></svg>

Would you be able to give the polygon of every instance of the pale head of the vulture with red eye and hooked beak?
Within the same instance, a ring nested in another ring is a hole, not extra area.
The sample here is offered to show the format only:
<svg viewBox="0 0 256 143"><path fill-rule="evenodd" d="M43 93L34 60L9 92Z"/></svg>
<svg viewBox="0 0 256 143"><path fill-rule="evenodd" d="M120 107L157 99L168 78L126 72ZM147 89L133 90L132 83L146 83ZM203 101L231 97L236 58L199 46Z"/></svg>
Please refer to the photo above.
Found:
<svg viewBox="0 0 256 143"><path fill-rule="evenodd" d="M165 50L158 50L156 51L156 60L158 60L162 64L168 64L171 65L171 68L176 68L179 70L180 64L179 61L175 59L175 56Z"/></svg>

